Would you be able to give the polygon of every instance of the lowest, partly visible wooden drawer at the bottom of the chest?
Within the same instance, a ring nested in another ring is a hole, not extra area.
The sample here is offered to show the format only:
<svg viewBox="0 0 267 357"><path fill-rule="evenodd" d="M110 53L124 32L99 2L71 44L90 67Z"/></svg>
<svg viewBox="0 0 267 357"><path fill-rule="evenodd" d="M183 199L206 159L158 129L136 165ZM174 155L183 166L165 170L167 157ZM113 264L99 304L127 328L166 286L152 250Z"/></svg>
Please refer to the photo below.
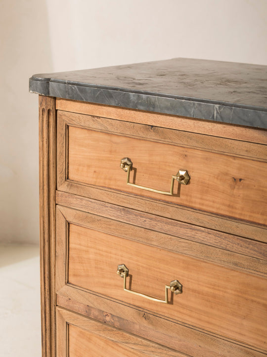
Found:
<svg viewBox="0 0 267 357"><path fill-rule="evenodd" d="M183 357L122 330L57 308L59 357Z"/></svg>

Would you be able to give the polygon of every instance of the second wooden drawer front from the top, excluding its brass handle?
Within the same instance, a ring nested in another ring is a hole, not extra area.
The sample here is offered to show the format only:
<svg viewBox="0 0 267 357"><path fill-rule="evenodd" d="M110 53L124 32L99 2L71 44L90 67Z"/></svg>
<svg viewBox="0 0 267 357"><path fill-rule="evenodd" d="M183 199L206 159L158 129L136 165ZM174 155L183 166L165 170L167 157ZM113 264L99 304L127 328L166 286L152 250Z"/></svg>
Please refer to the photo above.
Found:
<svg viewBox="0 0 267 357"><path fill-rule="evenodd" d="M264 350L265 245L258 252L247 246L244 256L228 238L228 251L193 242L186 247L182 238L58 207L57 293L66 294L67 287L70 300L77 289L98 294ZM182 293L169 291L166 304L126 292L116 274L119 264L130 270L127 289L164 300L165 285L177 279Z"/></svg>

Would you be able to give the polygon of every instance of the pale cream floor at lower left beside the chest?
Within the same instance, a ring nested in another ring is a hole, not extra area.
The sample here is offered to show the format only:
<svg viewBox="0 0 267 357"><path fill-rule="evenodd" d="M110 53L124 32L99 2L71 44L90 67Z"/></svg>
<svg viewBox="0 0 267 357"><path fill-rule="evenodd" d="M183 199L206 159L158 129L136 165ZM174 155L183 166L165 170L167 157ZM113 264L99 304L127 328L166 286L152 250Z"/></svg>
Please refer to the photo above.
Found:
<svg viewBox="0 0 267 357"><path fill-rule="evenodd" d="M0 244L0 356L41 357L39 246Z"/></svg>

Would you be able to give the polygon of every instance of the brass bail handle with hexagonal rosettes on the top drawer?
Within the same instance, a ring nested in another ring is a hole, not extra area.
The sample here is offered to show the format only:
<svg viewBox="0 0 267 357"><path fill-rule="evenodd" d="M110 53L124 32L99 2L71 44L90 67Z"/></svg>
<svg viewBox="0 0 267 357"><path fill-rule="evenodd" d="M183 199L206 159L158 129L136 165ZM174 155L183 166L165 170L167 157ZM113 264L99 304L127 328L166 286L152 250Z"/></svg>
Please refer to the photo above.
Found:
<svg viewBox="0 0 267 357"><path fill-rule="evenodd" d="M147 191L152 191L152 192L156 192L156 193L161 193L161 194L166 194L169 196L173 196L174 194L174 181L177 180L179 183L181 184L187 184L190 180L190 176L188 174L188 172L186 170L179 170L177 175L173 175L172 176L172 181L171 181L171 189L170 191L161 191L161 190L156 190L154 188L150 188L150 187L145 187L145 186L140 186L137 185L135 183L131 183L130 182L130 172L133 169L133 163L129 158L123 158L121 160L121 168L127 172L127 179L126 179L126 184L128 184L129 186L133 186L136 188L141 188Z"/></svg>

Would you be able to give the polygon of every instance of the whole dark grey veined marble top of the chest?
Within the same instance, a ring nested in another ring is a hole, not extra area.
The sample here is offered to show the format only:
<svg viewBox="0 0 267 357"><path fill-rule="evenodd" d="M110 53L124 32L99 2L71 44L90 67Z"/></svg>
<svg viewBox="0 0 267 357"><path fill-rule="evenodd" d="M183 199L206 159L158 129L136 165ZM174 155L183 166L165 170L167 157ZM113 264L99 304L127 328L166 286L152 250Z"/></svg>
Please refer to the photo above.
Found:
<svg viewBox="0 0 267 357"><path fill-rule="evenodd" d="M172 59L35 74L30 92L267 128L267 66Z"/></svg>

